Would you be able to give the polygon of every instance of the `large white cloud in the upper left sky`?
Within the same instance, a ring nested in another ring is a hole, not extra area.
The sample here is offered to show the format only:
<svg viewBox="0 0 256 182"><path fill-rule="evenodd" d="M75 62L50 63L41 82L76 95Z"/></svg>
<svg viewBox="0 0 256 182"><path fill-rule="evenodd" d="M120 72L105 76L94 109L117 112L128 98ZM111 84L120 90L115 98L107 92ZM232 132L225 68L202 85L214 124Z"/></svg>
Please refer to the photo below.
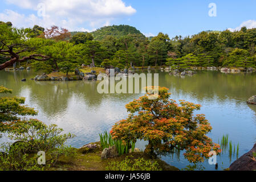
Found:
<svg viewBox="0 0 256 182"><path fill-rule="evenodd" d="M31 27L38 24L43 27L52 25L78 30L81 24L89 24L92 29L109 25L111 20L136 13L132 6L126 6L122 0L5 0L22 9L34 10L34 14L24 15L5 10L0 18L13 22L17 27ZM41 9L39 9L38 5ZM38 16L45 7L46 16ZM81 29L81 28L80 28Z"/></svg>

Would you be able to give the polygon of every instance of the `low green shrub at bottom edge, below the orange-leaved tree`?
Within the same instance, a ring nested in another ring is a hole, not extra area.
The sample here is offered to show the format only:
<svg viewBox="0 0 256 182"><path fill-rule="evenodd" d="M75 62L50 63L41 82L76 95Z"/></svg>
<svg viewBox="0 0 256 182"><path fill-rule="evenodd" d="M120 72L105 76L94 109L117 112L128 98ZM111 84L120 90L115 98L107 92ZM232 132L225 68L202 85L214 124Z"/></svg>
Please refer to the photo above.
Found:
<svg viewBox="0 0 256 182"><path fill-rule="evenodd" d="M157 162L144 158L131 160L128 157L121 162L111 162L106 167L107 171L162 171Z"/></svg>

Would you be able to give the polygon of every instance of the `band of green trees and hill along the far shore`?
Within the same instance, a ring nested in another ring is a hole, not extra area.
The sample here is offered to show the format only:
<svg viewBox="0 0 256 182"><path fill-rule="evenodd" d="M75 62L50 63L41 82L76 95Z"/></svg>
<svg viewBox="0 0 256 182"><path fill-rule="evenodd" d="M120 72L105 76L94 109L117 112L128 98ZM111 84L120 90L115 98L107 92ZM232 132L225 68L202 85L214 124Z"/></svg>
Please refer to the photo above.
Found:
<svg viewBox="0 0 256 182"><path fill-rule="evenodd" d="M193 36L160 32L147 38L135 27L108 26L94 32L69 32L52 26L14 28L0 22L0 69L27 61L47 72L82 64L93 67L170 66L255 67L256 28L240 31L203 31ZM67 70L66 70L67 71Z"/></svg>

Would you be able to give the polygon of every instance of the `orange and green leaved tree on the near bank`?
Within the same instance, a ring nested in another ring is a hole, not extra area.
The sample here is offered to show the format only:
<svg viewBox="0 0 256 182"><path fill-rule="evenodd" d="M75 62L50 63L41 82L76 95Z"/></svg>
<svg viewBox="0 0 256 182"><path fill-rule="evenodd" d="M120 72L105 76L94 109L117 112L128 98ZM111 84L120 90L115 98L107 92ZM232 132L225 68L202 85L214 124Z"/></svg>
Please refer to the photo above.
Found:
<svg viewBox="0 0 256 182"><path fill-rule="evenodd" d="M147 88L152 90L152 88ZM126 108L129 117L116 123L111 130L114 140L124 143L146 140L145 152L151 155L166 155L174 150L185 150L185 158L192 163L204 162L210 151L220 154L220 146L206 136L212 127L204 114L193 115L201 105L170 100L167 88L158 88L156 100L149 100L148 93L139 100L130 102Z"/></svg>

